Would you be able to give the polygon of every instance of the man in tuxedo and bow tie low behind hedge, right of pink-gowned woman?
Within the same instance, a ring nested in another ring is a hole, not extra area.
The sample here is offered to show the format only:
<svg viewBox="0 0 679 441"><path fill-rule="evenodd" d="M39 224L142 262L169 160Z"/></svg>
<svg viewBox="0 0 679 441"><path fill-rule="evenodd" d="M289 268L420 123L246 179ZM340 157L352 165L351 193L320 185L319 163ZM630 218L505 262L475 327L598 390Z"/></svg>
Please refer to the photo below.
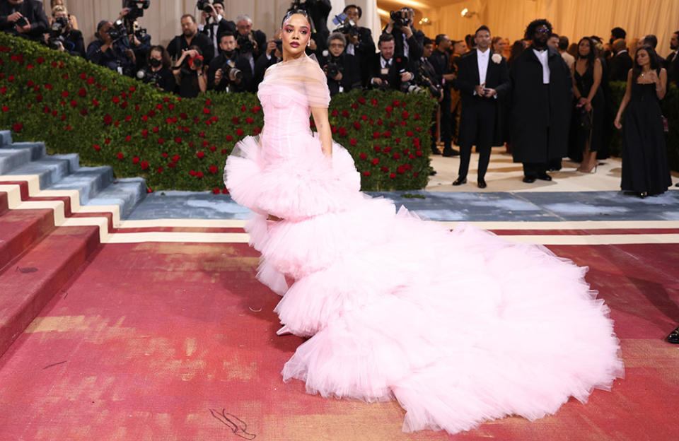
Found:
<svg viewBox="0 0 679 441"><path fill-rule="evenodd" d="M414 78L407 70L410 69L408 59L394 54L394 36L391 34L380 35L377 47L380 52L374 55L371 63L369 83L377 88L400 90L403 81Z"/></svg>

